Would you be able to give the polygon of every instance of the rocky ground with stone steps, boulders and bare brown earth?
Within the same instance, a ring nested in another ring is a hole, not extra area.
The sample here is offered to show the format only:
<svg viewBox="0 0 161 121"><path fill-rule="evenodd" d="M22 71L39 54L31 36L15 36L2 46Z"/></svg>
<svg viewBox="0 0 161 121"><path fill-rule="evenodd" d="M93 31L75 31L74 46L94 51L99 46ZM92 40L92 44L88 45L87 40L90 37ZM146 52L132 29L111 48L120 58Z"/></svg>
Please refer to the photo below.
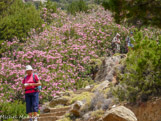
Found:
<svg viewBox="0 0 161 121"><path fill-rule="evenodd" d="M61 92L41 108L39 121L161 121L161 99L131 105L119 103L110 93L117 85L116 70L126 55L102 59L94 73L95 84L76 92ZM24 119L23 121L26 121Z"/></svg>

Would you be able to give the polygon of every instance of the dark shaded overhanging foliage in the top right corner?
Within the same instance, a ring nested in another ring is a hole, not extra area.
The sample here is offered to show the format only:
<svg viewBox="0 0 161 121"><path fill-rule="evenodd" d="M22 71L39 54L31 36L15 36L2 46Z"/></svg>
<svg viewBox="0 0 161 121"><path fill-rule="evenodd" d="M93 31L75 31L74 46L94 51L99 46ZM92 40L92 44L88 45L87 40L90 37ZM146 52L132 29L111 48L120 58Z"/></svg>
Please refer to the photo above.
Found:
<svg viewBox="0 0 161 121"><path fill-rule="evenodd" d="M103 0L105 9L113 12L117 23L128 22L132 24L161 27L161 1L160 0Z"/></svg>

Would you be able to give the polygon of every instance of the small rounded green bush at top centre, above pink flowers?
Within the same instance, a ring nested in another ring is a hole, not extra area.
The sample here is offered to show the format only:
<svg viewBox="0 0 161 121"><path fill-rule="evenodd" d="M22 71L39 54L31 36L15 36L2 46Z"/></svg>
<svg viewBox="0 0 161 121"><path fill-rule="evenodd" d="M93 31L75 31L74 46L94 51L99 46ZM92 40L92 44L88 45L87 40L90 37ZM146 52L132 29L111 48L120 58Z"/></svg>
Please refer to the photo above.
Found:
<svg viewBox="0 0 161 121"><path fill-rule="evenodd" d="M68 6L68 13L76 15L76 12L87 12L88 6L83 0L73 1Z"/></svg>

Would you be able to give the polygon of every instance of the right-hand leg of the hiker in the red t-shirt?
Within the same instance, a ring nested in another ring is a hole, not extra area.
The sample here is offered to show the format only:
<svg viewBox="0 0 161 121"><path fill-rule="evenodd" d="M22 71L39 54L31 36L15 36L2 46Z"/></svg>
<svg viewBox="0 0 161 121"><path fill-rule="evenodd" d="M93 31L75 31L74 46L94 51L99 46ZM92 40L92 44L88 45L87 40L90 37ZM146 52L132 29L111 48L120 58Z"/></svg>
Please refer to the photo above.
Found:
<svg viewBox="0 0 161 121"><path fill-rule="evenodd" d="M39 92L35 92L33 97L32 97L32 103L33 103L33 112L34 112L34 117L37 120L37 112L38 112L38 107L39 107Z"/></svg>

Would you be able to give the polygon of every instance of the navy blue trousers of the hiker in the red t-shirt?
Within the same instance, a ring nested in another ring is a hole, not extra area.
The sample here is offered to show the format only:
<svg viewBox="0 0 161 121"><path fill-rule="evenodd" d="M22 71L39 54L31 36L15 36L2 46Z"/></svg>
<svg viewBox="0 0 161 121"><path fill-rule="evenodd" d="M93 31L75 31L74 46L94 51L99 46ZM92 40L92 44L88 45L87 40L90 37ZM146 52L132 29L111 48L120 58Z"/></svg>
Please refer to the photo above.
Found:
<svg viewBox="0 0 161 121"><path fill-rule="evenodd" d="M39 109L39 92L25 94L26 113L38 112Z"/></svg>

